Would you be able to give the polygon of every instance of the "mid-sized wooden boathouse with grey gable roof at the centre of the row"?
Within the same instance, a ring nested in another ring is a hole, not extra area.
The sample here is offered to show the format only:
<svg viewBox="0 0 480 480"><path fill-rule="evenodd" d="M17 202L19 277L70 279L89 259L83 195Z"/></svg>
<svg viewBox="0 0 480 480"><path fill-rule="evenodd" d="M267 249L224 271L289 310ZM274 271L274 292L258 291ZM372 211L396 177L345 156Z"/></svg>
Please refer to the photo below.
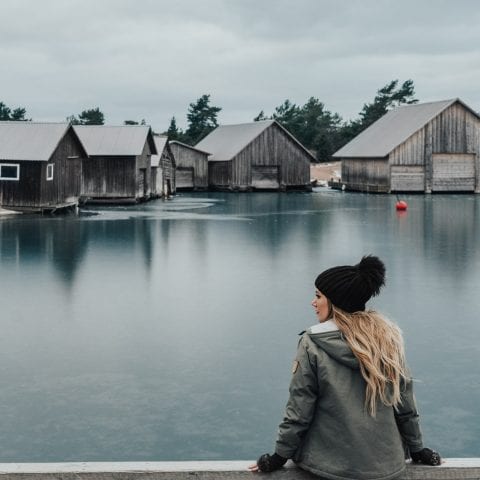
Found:
<svg viewBox="0 0 480 480"><path fill-rule="evenodd" d="M211 152L211 188L311 189L310 162L315 157L275 120L219 126L195 147Z"/></svg>

